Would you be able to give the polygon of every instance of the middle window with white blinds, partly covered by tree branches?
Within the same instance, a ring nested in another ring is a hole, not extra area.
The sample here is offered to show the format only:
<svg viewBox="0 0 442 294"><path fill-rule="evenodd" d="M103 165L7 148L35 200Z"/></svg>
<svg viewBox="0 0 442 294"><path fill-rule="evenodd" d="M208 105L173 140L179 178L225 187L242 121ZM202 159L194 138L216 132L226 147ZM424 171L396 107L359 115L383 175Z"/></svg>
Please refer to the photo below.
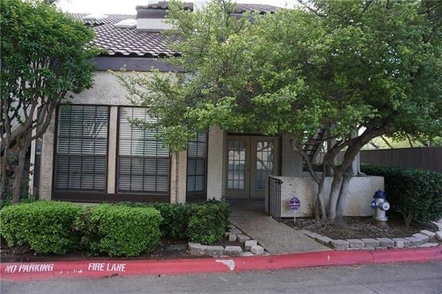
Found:
<svg viewBox="0 0 442 294"><path fill-rule="evenodd" d="M166 194L169 151L157 138L158 129L140 129L131 120L155 122L143 108L122 107L119 115L118 192Z"/></svg>

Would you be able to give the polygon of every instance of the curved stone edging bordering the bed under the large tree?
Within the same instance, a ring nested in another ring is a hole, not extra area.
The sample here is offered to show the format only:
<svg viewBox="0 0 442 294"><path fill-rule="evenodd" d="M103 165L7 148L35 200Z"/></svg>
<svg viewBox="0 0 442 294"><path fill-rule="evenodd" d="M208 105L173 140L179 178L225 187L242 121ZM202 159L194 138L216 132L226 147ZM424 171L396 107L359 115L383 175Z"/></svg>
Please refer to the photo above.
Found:
<svg viewBox="0 0 442 294"><path fill-rule="evenodd" d="M431 232L421 230L421 232L404 238L367 238L367 239L331 239L309 230L298 230L304 235L315 239L321 244L330 246L336 250L383 250L401 248L430 248L442 243L442 230Z"/></svg>

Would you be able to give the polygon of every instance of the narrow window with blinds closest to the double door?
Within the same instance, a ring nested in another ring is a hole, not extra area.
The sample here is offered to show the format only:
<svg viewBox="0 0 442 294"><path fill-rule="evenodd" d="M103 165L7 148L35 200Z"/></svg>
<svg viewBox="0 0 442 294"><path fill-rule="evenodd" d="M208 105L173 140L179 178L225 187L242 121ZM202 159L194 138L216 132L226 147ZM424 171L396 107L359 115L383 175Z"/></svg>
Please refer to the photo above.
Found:
<svg viewBox="0 0 442 294"><path fill-rule="evenodd" d="M187 150L187 193L206 192L207 134L198 132Z"/></svg>

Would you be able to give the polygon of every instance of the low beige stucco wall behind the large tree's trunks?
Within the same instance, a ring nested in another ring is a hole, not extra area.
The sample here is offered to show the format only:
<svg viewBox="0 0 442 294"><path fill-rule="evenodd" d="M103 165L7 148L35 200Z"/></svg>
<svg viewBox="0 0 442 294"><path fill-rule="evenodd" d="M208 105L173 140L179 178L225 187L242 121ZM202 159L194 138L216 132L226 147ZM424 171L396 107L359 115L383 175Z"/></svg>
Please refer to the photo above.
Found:
<svg viewBox="0 0 442 294"><path fill-rule="evenodd" d="M290 199L296 195L300 199L300 208L296 212L297 217L312 217L314 214L314 201L318 186L309 177L276 176L282 181L281 185L281 217L293 217L294 212L289 208ZM333 178L325 178L324 201L328 203L328 195ZM349 194L345 203L344 216L369 217L374 215L369 203L373 199L374 192L384 189L382 176L355 176L350 181ZM266 211L268 193L266 192Z"/></svg>

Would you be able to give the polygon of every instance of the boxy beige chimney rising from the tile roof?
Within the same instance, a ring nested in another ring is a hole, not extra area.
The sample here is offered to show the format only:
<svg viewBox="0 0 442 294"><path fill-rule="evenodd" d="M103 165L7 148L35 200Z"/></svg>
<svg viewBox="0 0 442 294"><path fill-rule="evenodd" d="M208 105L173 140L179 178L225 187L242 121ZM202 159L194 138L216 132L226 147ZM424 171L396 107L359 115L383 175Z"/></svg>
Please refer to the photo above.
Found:
<svg viewBox="0 0 442 294"><path fill-rule="evenodd" d="M167 13L166 1L149 0L146 6L137 6L137 30L142 32L161 32L172 28L164 19Z"/></svg>

